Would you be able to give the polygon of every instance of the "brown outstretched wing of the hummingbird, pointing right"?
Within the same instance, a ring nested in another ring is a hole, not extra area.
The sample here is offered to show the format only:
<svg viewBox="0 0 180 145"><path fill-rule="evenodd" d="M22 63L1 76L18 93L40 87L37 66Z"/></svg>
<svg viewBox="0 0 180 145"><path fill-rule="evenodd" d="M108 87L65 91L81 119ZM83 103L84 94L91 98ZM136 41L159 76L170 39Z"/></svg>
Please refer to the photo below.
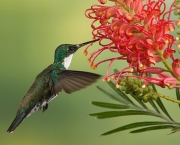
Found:
<svg viewBox="0 0 180 145"><path fill-rule="evenodd" d="M94 83L101 76L99 74L74 71L74 70L61 70L57 72L57 79L50 78L49 86L52 94L57 95L62 89L66 93L78 91L86 86Z"/></svg>

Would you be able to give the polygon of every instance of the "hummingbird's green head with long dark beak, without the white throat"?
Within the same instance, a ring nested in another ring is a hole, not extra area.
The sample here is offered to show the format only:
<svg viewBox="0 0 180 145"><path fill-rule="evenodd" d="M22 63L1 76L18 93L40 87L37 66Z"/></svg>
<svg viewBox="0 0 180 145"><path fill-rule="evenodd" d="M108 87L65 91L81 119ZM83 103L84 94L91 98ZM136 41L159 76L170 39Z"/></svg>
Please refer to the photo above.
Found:
<svg viewBox="0 0 180 145"><path fill-rule="evenodd" d="M81 44L61 44L55 50L54 62L63 61L65 58L67 58L69 56L72 56L72 54L74 54L82 46L85 46L87 44L96 42L98 40L99 39L84 42L84 43L81 43Z"/></svg>

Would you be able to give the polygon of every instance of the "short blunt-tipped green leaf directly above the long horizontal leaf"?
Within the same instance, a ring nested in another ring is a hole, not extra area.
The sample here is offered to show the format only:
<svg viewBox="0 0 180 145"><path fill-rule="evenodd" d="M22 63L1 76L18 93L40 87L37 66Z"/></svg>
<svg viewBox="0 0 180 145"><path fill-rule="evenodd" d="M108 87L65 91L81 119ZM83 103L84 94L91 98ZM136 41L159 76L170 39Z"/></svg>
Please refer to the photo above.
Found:
<svg viewBox="0 0 180 145"><path fill-rule="evenodd" d="M105 103L105 102L95 102L95 101L92 101L91 104L93 104L95 106L98 106L98 107L111 108L111 109L128 109L128 108L130 108L127 105Z"/></svg>

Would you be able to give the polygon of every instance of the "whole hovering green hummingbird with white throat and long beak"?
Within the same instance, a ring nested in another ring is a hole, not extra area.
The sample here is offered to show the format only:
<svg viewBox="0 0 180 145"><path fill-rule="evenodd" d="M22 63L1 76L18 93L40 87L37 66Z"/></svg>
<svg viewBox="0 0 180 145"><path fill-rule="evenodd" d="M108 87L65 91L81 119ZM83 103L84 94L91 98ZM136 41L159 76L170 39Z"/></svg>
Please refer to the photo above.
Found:
<svg viewBox="0 0 180 145"><path fill-rule="evenodd" d="M42 109L48 109L48 103L56 98L63 90L66 93L78 91L94 83L101 76L99 74L68 70L74 53L87 44L98 40L92 40L81 44L59 45L54 53L54 63L39 73L23 97L16 117L7 132L12 133L19 124L31 114Z"/></svg>

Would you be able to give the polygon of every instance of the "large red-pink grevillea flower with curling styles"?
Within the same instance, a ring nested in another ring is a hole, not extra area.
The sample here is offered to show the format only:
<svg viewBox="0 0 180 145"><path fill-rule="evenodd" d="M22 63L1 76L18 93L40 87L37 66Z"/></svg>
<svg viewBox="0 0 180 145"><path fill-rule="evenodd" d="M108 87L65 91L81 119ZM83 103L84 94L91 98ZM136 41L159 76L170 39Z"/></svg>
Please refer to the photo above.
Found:
<svg viewBox="0 0 180 145"><path fill-rule="evenodd" d="M180 25L179 21L171 19L171 13L180 9L173 7L175 0L168 10L165 0L109 1L114 2L114 5L105 6L107 0L99 0L99 5L92 5L85 12L87 18L93 19L92 35L94 39L99 39L101 46L88 58L91 67L95 69L99 64L109 62L104 80L108 81L112 76L117 87L119 78L124 76L143 79L144 84L151 82L162 87L180 87L180 59L174 58L180 45L171 35L175 25ZM87 50L84 50L85 54ZM118 53L119 56L95 63L95 59L105 50ZM121 68L120 72L109 74L116 60L126 60L128 66ZM163 62L165 69L153 67L158 62ZM160 74L163 72L168 77L162 77ZM144 75L146 73L157 74L157 77L148 77Z"/></svg>

